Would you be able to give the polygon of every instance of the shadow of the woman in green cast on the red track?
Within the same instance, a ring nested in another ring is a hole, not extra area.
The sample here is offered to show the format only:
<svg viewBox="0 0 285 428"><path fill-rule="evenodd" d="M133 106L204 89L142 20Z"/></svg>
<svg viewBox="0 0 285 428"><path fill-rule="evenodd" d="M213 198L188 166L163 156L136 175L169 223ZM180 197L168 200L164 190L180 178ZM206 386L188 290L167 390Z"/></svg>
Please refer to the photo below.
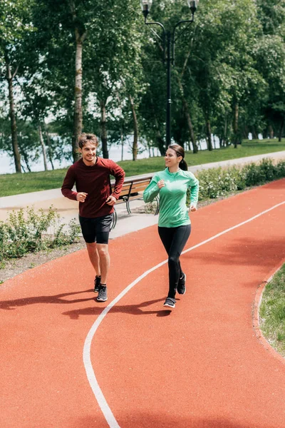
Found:
<svg viewBox="0 0 285 428"><path fill-rule="evenodd" d="M144 307L153 305L165 300L162 299L150 300L148 302L138 303L137 305L115 305L110 310L110 313L123 313L129 315L152 315L155 314L157 317L167 317L171 314L171 310L143 310ZM102 312L102 306L85 307L78 310L68 310L63 312L63 315L68 315L71 320L78 320L80 315L99 315Z"/></svg>

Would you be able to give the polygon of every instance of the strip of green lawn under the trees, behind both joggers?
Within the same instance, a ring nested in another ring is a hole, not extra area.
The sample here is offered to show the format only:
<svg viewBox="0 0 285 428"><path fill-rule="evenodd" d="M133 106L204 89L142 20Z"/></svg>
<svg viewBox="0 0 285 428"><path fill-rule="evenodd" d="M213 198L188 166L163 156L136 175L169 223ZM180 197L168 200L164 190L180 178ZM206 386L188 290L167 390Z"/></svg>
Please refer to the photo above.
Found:
<svg viewBox="0 0 285 428"><path fill-rule="evenodd" d="M222 148L209 151L199 151L196 155L187 152L186 161L188 165L200 165L229 159L244 158L264 153L285 151L285 140L281 143L274 140L244 141L242 146L234 148ZM125 170L126 176L152 173L164 168L162 157L140 159L136 162L118 162ZM19 195L20 193L36 192L61 188L63 178L66 175L66 168L58 170L43 171L39 173L5 174L0 175L0 197L9 195Z"/></svg>

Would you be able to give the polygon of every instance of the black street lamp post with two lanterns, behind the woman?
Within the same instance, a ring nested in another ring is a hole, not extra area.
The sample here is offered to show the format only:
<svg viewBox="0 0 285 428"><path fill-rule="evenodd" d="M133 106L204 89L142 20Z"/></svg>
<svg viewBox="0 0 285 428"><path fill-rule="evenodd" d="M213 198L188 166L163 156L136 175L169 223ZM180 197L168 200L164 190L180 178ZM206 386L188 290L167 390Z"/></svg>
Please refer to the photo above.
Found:
<svg viewBox="0 0 285 428"><path fill-rule="evenodd" d="M199 0L190 1L187 0L187 4L192 13L192 19L187 19L177 22L172 31L165 30L165 27L160 22L147 22L147 15L150 13L150 8L152 6L152 0L140 0L142 7L142 14L145 16L146 25L158 25L162 28L162 48L163 48L163 62L167 65L167 101L166 101L166 143L167 146L171 143L171 65L174 65L175 61L175 30L177 26L188 22L192 24L194 21L194 14L197 9ZM166 41L166 43L165 43ZM165 49L166 44L166 49Z"/></svg>

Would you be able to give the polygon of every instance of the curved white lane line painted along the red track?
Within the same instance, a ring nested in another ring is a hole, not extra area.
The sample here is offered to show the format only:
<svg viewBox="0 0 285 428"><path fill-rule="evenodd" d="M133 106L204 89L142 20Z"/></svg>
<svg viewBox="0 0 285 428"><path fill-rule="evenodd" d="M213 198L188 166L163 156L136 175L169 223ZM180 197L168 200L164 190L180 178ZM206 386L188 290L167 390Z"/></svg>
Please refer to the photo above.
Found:
<svg viewBox="0 0 285 428"><path fill-rule="evenodd" d="M249 222L251 222L252 220L255 220L256 218L259 218L261 215L264 215L266 213L269 213L269 211L274 210L275 208L280 207L281 205L284 205L284 202L278 203L277 205L274 205L273 207L269 208L268 210L262 211L262 213L259 213L257 215L254 215L254 217L249 218L249 220L245 220L242 223L239 223L238 225L232 226L232 228L228 228L226 230L223 230L220 233L217 233L217 235L212 236L212 238L209 238L207 240L202 241L202 243L199 243L197 245L194 245L191 248L188 248L187 250L183 251L182 254L188 253L189 251L195 250L195 248L200 247L201 245L207 244L210 241L219 238L219 236L224 235L225 233L230 232L231 230L237 229L242 225L245 225ZM138 284L138 282L140 282L140 280L142 280L142 278L146 277L149 273L153 272L154 270L158 269L159 267L161 267L162 265L165 265L165 263L167 263L167 260L164 260L163 262L159 263L158 265L156 265L155 267L152 267L151 269L147 270L146 272L144 272L142 275L140 275L140 277L138 277L135 281L133 281L130 285L128 285L128 287L126 287L122 292L120 292L120 294L115 297L114 300L112 300L112 302L109 303L109 305L107 307L105 307L105 309L103 310L103 312L98 316L97 320L95 320L93 326L90 328L88 335L86 337L86 341L84 343L84 347L83 347L83 362L84 362L84 366L86 369L86 374L88 377L88 381L90 383L90 387L93 390L93 393L95 395L95 398L98 401L98 404L100 406L100 409L103 412L103 415L106 419L106 422L108 423L110 428L120 428L120 425L118 424L118 422L116 421L110 407L108 406L108 403L106 402L106 399L103 395L102 390L100 389L100 386L98 384L98 381L95 377L95 373L92 367L92 362L91 362L91 358L90 358L90 348L91 348L91 342L93 340L93 337L95 335L96 330L98 329L99 325L101 324L101 322L103 321L103 319L105 318L105 316L108 314L108 312L112 309L112 307L119 302L119 300L124 297L124 295L127 294L127 292L133 288L136 284Z"/></svg>

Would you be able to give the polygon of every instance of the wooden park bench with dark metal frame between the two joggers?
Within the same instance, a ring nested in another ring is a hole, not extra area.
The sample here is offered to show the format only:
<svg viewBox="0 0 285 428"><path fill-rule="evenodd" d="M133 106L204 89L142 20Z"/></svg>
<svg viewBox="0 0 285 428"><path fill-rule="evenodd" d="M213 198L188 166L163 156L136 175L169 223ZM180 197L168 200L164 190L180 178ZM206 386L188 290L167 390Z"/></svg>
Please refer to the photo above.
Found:
<svg viewBox="0 0 285 428"><path fill-rule="evenodd" d="M142 193L150 184L151 179L152 179L152 176L149 176L147 178L129 178L129 179L126 178L123 183L122 190L120 191L120 197L115 203L115 205L118 205L119 203L125 203L128 214L131 214L132 212L130 210L130 201L135 199L142 199ZM114 182L111 183L111 185L113 190ZM158 197L155 198L155 202L156 202L155 215L157 215L160 210ZM117 223L117 213L115 210L111 229L115 228L116 223Z"/></svg>

